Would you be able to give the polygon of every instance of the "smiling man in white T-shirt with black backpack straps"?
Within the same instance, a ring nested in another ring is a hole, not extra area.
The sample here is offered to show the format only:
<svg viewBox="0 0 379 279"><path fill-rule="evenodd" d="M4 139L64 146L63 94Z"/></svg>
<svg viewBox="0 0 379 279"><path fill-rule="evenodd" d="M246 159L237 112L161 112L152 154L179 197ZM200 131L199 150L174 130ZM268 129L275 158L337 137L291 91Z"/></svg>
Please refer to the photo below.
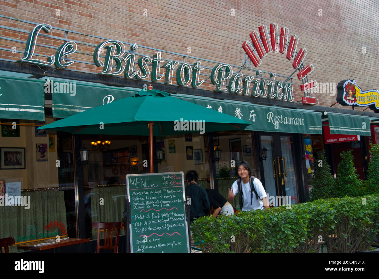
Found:
<svg viewBox="0 0 379 279"><path fill-rule="evenodd" d="M232 190L229 189L229 202L232 202L235 195L240 192L242 211L269 208L265 188L258 178L251 175L249 163L246 161L238 162L236 164L236 175L239 178L234 181Z"/></svg>

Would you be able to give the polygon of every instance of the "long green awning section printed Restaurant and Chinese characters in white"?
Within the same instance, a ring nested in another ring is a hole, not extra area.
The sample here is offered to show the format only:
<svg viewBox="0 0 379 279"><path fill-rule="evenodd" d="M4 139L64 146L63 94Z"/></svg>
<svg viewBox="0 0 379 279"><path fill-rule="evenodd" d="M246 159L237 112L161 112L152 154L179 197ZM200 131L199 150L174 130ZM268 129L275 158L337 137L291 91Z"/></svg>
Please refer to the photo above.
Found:
<svg viewBox="0 0 379 279"><path fill-rule="evenodd" d="M218 110L251 123L245 130L322 134L321 113L301 109L278 108L247 102L218 100L184 94L172 96Z"/></svg>

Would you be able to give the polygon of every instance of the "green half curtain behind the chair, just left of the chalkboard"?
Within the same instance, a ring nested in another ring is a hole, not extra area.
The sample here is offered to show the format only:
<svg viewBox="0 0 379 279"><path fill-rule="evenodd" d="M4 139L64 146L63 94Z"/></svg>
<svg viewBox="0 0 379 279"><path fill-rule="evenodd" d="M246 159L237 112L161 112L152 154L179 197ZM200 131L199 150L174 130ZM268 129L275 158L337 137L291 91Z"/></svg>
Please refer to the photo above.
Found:
<svg viewBox="0 0 379 279"><path fill-rule="evenodd" d="M121 222L126 199L126 186L91 189L92 222ZM124 234L124 230L121 229L120 235ZM92 237L97 238L96 229L92 229ZM100 235L100 238L102 237Z"/></svg>

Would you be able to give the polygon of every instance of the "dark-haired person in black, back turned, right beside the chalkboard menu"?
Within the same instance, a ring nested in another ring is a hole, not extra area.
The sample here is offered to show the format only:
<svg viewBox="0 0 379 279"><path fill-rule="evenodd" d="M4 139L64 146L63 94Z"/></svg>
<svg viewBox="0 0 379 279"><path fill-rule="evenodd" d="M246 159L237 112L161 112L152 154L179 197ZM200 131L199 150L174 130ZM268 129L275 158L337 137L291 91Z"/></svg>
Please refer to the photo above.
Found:
<svg viewBox="0 0 379 279"><path fill-rule="evenodd" d="M189 204L189 217L192 223L195 218L208 214L210 204L205 189L196 184L197 181L199 181L199 175L196 171L188 171L186 173L186 181L188 186L185 188L185 192L186 196L191 198L191 203Z"/></svg>

